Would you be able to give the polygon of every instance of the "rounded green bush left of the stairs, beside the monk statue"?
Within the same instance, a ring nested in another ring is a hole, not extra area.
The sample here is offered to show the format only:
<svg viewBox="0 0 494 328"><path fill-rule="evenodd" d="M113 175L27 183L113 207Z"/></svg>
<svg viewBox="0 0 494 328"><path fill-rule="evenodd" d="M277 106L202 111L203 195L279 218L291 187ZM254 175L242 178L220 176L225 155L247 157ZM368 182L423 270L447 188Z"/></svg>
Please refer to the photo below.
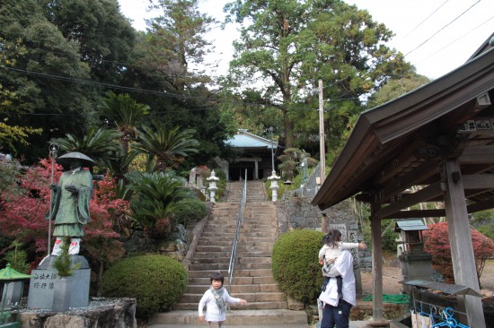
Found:
<svg viewBox="0 0 494 328"><path fill-rule="evenodd" d="M187 289L187 271L164 255L140 255L115 263L103 274L101 291L108 298L136 298L137 317L169 310Z"/></svg>

